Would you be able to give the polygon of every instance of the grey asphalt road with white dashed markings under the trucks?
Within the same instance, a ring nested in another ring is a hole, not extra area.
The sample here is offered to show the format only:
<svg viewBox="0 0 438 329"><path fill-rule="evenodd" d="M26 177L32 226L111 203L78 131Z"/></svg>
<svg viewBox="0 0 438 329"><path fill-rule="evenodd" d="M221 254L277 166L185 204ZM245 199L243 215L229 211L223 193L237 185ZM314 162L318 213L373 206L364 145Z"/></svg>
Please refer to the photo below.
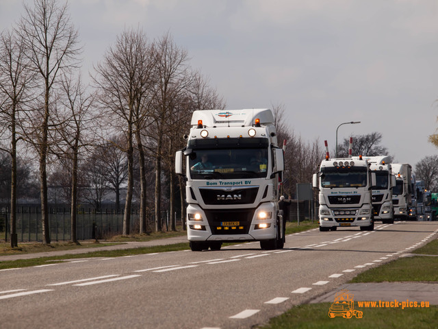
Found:
<svg viewBox="0 0 438 329"><path fill-rule="evenodd" d="M244 243L3 270L0 328L251 328L437 234L438 221L377 223L292 234L283 250Z"/></svg>

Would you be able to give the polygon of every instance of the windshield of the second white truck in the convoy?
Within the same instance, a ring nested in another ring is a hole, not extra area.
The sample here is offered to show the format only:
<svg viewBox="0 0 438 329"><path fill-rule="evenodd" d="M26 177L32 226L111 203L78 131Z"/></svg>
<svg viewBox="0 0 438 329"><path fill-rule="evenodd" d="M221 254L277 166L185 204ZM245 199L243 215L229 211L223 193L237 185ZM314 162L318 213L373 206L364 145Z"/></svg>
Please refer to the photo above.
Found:
<svg viewBox="0 0 438 329"><path fill-rule="evenodd" d="M367 186L367 169L365 167L350 168L322 168L321 186L336 187L364 187Z"/></svg>

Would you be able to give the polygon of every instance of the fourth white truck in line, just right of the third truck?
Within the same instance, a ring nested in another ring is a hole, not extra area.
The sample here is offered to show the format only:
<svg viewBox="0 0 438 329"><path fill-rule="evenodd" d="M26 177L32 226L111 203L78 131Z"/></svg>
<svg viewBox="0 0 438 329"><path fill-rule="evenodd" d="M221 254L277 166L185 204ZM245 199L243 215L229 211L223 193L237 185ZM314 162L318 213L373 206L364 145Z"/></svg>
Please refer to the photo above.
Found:
<svg viewBox="0 0 438 329"><path fill-rule="evenodd" d="M392 163L396 186L392 190L395 219L408 219L412 206L412 167L407 163Z"/></svg>

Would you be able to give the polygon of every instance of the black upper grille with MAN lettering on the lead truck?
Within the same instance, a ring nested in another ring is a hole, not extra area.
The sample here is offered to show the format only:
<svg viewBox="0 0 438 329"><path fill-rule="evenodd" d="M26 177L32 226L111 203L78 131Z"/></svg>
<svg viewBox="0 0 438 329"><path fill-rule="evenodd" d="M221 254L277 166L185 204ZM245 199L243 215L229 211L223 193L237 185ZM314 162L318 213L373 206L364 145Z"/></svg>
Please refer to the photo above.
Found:
<svg viewBox="0 0 438 329"><path fill-rule="evenodd" d="M250 188L199 188L205 204L253 204L258 187Z"/></svg>

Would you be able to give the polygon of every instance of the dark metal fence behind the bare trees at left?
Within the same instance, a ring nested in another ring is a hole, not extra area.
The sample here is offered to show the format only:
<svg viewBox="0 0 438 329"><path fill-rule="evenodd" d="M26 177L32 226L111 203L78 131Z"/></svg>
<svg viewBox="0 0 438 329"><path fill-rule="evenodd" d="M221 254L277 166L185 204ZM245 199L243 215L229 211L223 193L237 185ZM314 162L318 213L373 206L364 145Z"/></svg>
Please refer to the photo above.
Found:
<svg viewBox="0 0 438 329"><path fill-rule="evenodd" d="M155 227L155 216L149 214L148 226ZM168 212L162 212L162 225L168 228ZM114 209L96 212L92 208L78 209L76 219L76 236L78 240L103 239L122 234L123 212ZM69 208L49 208L49 230L51 241L68 241L71 239ZM140 231L138 210L131 212L130 231ZM19 242L42 241L41 208L38 206L18 206L16 209L16 233ZM8 207L0 208L0 240L8 240L10 234L10 211Z"/></svg>

